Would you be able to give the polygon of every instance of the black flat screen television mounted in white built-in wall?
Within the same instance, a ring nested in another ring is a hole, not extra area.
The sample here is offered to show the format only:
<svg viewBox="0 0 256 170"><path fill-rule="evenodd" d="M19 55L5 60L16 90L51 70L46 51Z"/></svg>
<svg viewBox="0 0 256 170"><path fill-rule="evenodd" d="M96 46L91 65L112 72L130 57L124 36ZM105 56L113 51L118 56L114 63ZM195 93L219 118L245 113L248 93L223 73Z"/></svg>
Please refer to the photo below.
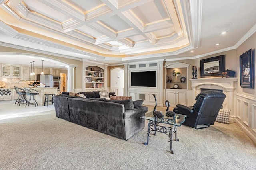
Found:
<svg viewBox="0 0 256 170"><path fill-rule="evenodd" d="M156 87L156 71L131 72L132 87Z"/></svg>

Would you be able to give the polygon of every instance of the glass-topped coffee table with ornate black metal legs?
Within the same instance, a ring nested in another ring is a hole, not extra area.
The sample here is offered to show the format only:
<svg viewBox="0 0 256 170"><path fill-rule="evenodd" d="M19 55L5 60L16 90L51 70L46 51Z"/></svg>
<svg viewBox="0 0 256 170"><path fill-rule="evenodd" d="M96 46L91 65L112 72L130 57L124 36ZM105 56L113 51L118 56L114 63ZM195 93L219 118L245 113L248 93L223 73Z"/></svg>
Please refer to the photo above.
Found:
<svg viewBox="0 0 256 170"><path fill-rule="evenodd" d="M172 150L173 133L175 133L175 141L179 141L177 138L177 126L181 126L185 121L185 117L186 115L176 114L175 119L167 116L164 116L163 118L142 116L140 119L148 120L148 140L151 131L154 131L154 135L156 135L156 132L161 132L169 136L170 141L168 142L170 142L170 151L174 154ZM144 145L148 145L148 140Z"/></svg>

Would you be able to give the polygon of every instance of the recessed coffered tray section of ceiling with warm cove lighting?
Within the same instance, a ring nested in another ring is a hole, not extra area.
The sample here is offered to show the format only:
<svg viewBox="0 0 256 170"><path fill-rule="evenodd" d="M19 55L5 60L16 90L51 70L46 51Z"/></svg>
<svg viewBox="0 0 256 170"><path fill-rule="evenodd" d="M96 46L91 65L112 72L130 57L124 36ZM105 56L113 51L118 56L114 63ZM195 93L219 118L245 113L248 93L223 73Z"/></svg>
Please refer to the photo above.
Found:
<svg viewBox="0 0 256 170"><path fill-rule="evenodd" d="M89 56L134 57L175 52L191 45L186 30L190 27L184 19L188 12L182 11L186 3L0 0L0 20L15 31L15 38Z"/></svg>

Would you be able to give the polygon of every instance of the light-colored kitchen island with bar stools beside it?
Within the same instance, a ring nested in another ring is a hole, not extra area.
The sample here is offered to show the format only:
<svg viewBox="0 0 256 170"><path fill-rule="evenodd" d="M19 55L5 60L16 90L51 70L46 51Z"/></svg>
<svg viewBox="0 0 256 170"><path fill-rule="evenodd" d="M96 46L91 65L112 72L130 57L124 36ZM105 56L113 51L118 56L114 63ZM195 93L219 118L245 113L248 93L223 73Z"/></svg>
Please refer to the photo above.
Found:
<svg viewBox="0 0 256 170"><path fill-rule="evenodd" d="M30 87L31 89L34 89L38 91L39 95L35 95L35 100L38 103L38 105L44 106L44 94L56 94L58 88L56 87ZM31 90L32 91L32 90ZM49 100L52 100L52 96L49 96Z"/></svg>

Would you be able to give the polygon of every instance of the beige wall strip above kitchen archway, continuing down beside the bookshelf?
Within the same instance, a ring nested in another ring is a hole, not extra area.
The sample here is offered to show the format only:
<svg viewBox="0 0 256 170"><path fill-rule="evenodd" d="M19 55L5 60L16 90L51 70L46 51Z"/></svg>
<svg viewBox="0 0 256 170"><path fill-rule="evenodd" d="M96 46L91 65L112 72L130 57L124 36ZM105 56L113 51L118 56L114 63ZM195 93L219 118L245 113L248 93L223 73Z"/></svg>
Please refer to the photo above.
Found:
<svg viewBox="0 0 256 170"><path fill-rule="evenodd" d="M51 59L63 61L68 64L77 65L77 67L74 68L74 88L75 89L82 88L82 61L81 60L68 59L68 58L58 57L58 56L54 56L54 55L35 53L32 51L14 49L14 48L3 47L3 46L0 46L0 52L23 53L23 54L28 54L28 55L44 56L44 57L49 57Z"/></svg>

